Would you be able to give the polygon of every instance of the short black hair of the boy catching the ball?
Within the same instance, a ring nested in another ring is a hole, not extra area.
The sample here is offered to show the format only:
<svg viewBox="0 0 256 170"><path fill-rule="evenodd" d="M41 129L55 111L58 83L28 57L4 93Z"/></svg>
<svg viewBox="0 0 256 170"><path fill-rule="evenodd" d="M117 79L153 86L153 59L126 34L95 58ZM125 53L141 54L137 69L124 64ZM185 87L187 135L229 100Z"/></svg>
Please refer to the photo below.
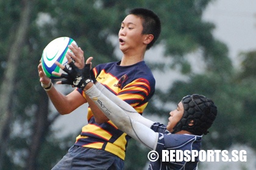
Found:
<svg viewBox="0 0 256 170"><path fill-rule="evenodd" d="M143 21L143 32L142 34L152 34L154 36L154 39L148 44L146 49L150 49L155 41L157 41L160 32L161 32L161 22L158 16L148 9L132 9L129 12L130 15L136 15L140 17Z"/></svg>

